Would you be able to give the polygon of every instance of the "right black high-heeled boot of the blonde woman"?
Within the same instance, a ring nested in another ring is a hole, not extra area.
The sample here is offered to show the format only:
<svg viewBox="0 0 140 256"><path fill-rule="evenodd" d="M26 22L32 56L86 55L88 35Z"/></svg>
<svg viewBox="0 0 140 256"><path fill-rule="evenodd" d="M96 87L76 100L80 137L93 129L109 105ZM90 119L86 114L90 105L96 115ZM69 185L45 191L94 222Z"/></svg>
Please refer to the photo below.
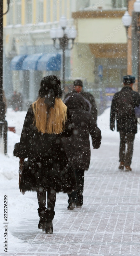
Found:
<svg viewBox="0 0 140 256"><path fill-rule="evenodd" d="M55 216L55 211L46 210L46 226L45 232L46 234L53 234L53 219Z"/></svg>

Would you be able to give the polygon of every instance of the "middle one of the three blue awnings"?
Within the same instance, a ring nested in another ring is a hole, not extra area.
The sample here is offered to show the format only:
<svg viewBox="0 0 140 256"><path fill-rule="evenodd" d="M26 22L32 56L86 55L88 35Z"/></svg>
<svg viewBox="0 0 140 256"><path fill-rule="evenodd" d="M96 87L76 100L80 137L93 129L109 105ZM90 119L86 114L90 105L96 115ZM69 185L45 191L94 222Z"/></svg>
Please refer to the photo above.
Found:
<svg viewBox="0 0 140 256"><path fill-rule="evenodd" d="M42 57L42 54L30 54L28 55L22 64L23 70L37 70L37 63Z"/></svg>

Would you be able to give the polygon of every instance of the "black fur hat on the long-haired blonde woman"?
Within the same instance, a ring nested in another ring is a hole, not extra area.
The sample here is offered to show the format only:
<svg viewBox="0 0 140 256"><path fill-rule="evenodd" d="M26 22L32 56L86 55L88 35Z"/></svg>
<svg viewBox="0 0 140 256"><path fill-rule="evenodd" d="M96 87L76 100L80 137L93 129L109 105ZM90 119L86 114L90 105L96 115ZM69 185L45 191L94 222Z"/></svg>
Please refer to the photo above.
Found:
<svg viewBox="0 0 140 256"><path fill-rule="evenodd" d="M54 92L55 98L62 96L61 82L57 76L43 77L39 89L39 97L45 97L46 95Z"/></svg>

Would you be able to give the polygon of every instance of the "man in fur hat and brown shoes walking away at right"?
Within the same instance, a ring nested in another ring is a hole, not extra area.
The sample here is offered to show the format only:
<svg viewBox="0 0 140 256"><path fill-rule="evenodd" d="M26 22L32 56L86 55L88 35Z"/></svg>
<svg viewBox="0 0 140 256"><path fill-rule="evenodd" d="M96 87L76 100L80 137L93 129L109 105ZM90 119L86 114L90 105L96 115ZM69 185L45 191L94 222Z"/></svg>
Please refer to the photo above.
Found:
<svg viewBox="0 0 140 256"><path fill-rule="evenodd" d="M131 160L133 155L133 143L137 133L137 118L135 117L135 106L140 104L140 96L132 90L135 77L124 76L124 87L114 94L110 113L110 129L115 128L114 122L117 119L117 131L120 132L119 169L132 170ZM127 151L125 148L127 144Z"/></svg>

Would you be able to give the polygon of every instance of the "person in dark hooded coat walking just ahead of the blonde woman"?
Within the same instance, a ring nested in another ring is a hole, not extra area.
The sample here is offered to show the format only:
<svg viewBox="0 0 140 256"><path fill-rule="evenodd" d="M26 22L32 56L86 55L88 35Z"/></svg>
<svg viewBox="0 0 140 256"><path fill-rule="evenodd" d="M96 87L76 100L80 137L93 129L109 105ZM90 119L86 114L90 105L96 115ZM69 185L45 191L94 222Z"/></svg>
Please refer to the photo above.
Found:
<svg viewBox="0 0 140 256"><path fill-rule="evenodd" d="M72 161L77 179L77 191L68 194L68 209L83 205L84 171L90 165L90 140L92 137L93 148L99 148L101 144L101 131L90 113L90 103L81 94L73 93L65 99L72 122L74 125L73 135L63 138L62 142L69 161Z"/></svg>

